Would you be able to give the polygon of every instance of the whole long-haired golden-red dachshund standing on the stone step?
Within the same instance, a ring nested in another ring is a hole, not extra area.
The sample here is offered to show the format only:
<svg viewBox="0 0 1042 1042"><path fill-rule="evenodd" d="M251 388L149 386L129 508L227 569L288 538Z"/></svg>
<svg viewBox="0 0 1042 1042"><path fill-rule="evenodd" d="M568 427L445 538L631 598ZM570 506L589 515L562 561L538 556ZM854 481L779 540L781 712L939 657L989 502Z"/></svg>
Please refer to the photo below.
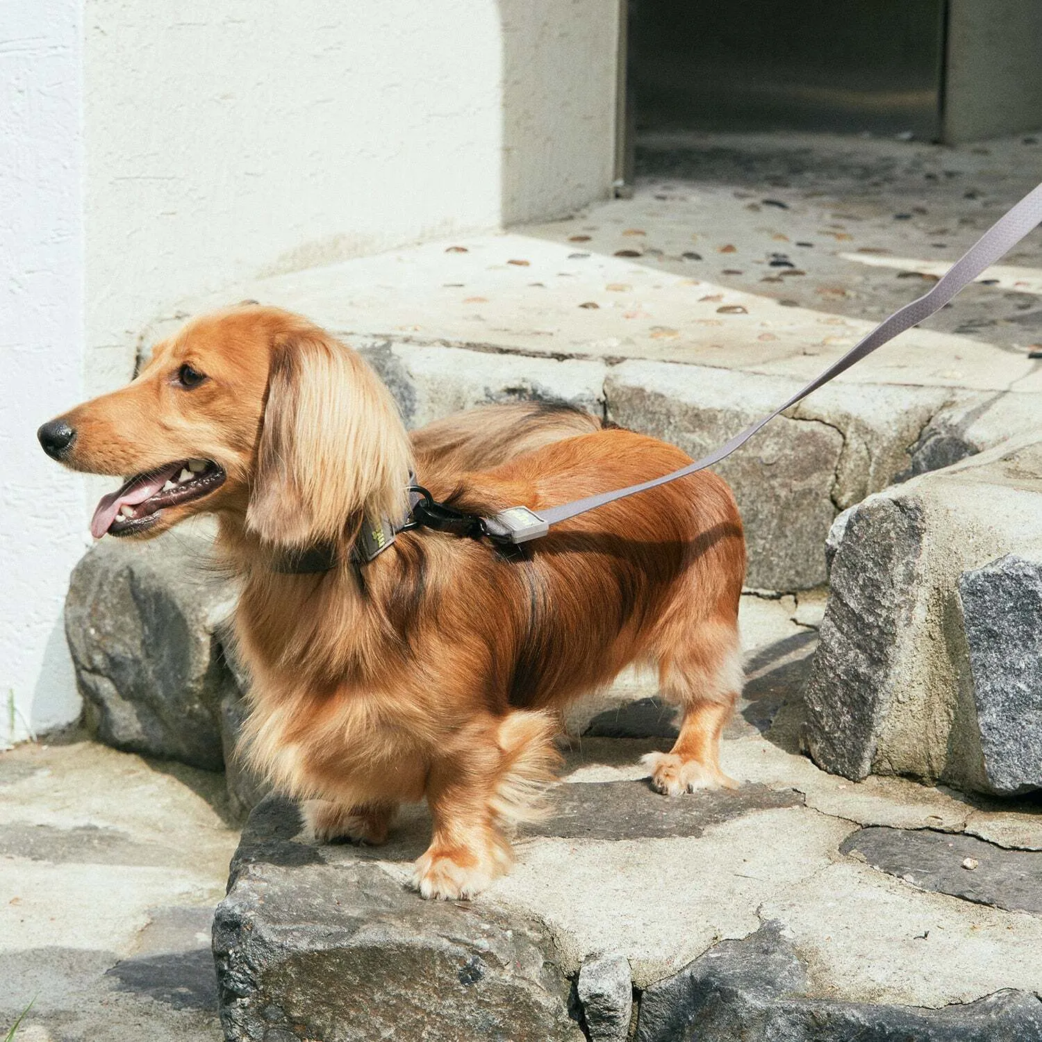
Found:
<svg viewBox="0 0 1042 1042"><path fill-rule="evenodd" d="M645 758L654 788L734 784L718 751L742 683L745 546L716 475L510 552L423 528L359 552L364 528L401 523L413 481L481 516L538 511L675 470L688 456L670 445L538 404L411 439L355 351L260 306L192 322L130 384L39 437L75 470L132 475L98 504L97 538L217 516L242 587L248 756L303 801L319 840L379 843L400 802L426 797L424 897L466 897L506 870L510 825L552 777L563 706L630 663L655 666L684 710L672 751Z"/></svg>

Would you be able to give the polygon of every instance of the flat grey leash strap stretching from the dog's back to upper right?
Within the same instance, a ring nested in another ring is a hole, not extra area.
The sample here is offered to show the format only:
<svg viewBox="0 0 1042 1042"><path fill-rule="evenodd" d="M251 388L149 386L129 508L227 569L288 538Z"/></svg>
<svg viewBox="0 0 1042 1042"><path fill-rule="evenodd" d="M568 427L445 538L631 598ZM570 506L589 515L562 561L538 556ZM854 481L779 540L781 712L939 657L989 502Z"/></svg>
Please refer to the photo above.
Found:
<svg viewBox="0 0 1042 1042"><path fill-rule="evenodd" d="M1012 209L1000 217L933 286L928 293L924 293L921 297L894 312L889 318L884 319L846 354L834 362L801 391L797 391L788 401L778 405L773 413L756 420L755 423L731 438L730 441L725 442L700 460L696 460L671 474L652 478L650 481L630 485L625 489L616 489L614 492L601 492L595 496L587 496L585 499L575 499L570 503L541 510L539 513L530 511L526 506L513 506L497 514L494 518L485 519L488 534L494 539L512 543L525 543L528 540L545 536L552 524L567 521L569 518L586 514L587 511L596 510L605 503L624 499L626 496L636 496L639 492L655 489L660 485L675 481L677 478L712 467L729 456L731 452L744 445L763 426L770 423L787 408L802 401L809 394L817 391L822 384L839 376L855 363L861 362L877 347L882 347L894 337L904 332L905 329L911 329L924 319L929 318L931 315L939 312L960 290L978 278L987 268L990 268L1003 254L1013 249L1040 222L1042 222L1042 184L1035 188Z"/></svg>

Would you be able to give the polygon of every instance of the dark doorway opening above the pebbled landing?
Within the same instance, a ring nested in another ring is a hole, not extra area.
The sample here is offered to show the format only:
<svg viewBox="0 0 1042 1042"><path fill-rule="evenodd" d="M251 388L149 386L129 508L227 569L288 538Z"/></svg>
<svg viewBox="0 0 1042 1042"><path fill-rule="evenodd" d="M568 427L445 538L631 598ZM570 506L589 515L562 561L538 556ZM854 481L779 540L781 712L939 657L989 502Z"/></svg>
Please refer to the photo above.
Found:
<svg viewBox="0 0 1042 1042"><path fill-rule="evenodd" d="M638 133L941 131L944 0L631 0Z"/></svg>

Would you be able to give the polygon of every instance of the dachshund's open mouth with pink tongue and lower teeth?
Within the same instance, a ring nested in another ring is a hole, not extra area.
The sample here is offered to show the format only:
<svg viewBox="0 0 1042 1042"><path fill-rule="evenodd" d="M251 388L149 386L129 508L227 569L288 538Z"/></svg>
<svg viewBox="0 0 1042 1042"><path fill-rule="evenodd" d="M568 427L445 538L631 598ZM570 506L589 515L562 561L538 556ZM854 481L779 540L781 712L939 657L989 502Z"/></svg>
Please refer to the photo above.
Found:
<svg viewBox="0 0 1042 1042"><path fill-rule="evenodd" d="M224 483L224 469L212 460L180 460L135 474L102 496L91 519L91 535L132 536L155 524L159 512L209 495Z"/></svg>

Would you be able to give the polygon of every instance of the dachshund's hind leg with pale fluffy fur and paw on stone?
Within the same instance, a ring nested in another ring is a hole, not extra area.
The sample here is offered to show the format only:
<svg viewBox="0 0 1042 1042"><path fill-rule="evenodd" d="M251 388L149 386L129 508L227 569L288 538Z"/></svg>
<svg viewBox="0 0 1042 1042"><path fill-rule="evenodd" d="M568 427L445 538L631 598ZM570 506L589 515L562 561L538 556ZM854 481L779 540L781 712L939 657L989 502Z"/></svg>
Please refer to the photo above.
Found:
<svg viewBox="0 0 1042 1042"><path fill-rule="evenodd" d="M684 716L673 748L644 756L652 788L668 796L737 788L720 768L720 736L742 690L737 628L700 623L680 648L661 658L660 679L663 695L679 703Z"/></svg>

